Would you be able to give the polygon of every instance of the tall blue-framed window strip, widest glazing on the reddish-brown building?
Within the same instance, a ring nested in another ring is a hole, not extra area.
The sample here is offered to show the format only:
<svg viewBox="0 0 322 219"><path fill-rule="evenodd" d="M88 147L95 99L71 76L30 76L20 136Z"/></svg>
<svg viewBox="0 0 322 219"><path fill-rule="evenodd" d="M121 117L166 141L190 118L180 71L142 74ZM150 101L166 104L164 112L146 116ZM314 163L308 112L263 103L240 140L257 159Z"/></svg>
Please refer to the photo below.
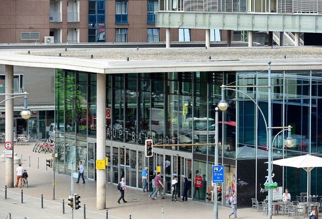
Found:
<svg viewBox="0 0 322 219"><path fill-rule="evenodd" d="M89 1L89 42L105 42L105 1Z"/></svg>

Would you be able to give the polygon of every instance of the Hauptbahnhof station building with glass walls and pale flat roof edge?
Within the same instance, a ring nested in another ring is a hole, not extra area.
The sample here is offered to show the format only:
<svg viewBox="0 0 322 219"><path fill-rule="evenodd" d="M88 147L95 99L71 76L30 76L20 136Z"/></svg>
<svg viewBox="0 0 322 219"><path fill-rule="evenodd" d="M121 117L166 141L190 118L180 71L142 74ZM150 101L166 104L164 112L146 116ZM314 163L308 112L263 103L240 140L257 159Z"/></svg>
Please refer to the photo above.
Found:
<svg viewBox="0 0 322 219"><path fill-rule="evenodd" d="M192 50L185 49L184 53L197 52ZM146 49L137 60L91 59L90 53L88 59L58 57L56 51L48 56L9 53L0 59L0 65L54 73L55 171L70 175L82 160L85 176L97 180L98 191L104 193L97 193L99 209L105 208L106 184L117 184L124 177L127 186L141 189L145 167L149 179L160 171L164 193L171 194L171 181L178 176L182 195L183 179L187 177L191 182L188 197L209 202L206 193L213 190L215 144L185 144L214 143L220 86L244 86L236 89L248 96L226 90L224 99L229 107L219 111L219 164L224 166L221 204L228 205L227 197L233 191L238 193L239 207L251 206L251 198L264 200L268 195L264 188L268 175L267 130L256 104L267 119L268 88L251 86L268 84L269 60L190 61L173 58L175 49L160 51L162 58L151 56ZM128 51L117 52L126 57ZM322 104L322 59L270 61L272 126L292 126L294 139L294 145L286 147L287 133L277 135L281 130L273 130L276 139L272 158L321 155L322 111L318 107ZM146 139L153 139L152 157L145 157ZM106 170L97 170L96 160L105 157ZM318 170L310 174L310 193L315 195L321 191ZM288 188L292 199L306 191L303 170L274 166L273 174L273 181L283 190ZM196 175L202 179L201 185L195 182Z"/></svg>

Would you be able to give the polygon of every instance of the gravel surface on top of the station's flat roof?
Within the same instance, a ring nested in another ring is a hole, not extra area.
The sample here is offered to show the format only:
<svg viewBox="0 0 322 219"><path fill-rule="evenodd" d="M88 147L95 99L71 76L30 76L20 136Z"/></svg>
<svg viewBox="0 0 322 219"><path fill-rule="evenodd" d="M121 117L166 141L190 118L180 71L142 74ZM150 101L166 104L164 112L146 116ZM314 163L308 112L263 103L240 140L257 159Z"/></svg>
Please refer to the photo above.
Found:
<svg viewBox="0 0 322 219"><path fill-rule="evenodd" d="M27 52L19 52L27 54ZM30 51L34 56L77 57L83 59L126 60L249 60L249 59L322 59L321 47L211 47L205 48L124 48L55 49Z"/></svg>

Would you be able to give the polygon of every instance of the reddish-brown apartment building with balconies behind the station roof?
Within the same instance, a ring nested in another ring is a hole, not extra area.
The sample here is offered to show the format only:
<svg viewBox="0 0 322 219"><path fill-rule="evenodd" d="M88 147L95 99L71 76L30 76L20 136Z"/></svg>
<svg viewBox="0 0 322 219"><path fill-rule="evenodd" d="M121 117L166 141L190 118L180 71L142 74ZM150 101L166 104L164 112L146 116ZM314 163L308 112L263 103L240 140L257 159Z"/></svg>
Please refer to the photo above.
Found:
<svg viewBox="0 0 322 219"><path fill-rule="evenodd" d="M159 1L0 1L0 43L164 42ZM219 29L211 40L220 41ZM171 41L204 41L205 31L173 29ZM226 35L226 34L224 34ZM225 37L224 39L225 40Z"/></svg>

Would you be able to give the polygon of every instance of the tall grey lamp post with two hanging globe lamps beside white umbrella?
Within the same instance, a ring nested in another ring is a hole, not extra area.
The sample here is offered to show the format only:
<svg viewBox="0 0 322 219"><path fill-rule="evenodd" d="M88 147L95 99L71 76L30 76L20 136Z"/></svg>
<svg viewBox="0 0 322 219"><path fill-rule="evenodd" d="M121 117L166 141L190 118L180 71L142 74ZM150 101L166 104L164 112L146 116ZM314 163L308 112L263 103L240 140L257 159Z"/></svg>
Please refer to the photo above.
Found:
<svg viewBox="0 0 322 219"><path fill-rule="evenodd" d="M243 91L240 91L240 90L237 90L237 89L233 89L232 87L234 88L237 88L237 87L255 87L255 88L258 88L258 87L267 87L268 88L268 123L265 119L265 116L264 116L264 113L262 112L262 109L260 108L260 106L257 104L257 102L251 97L249 96L247 93L243 92ZM218 107L221 111L225 111L227 108L228 108L228 103L224 100L224 96L225 96L225 89L227 90L234 90L234 91L237 91L237 92L240 92L240 93L243 93L244 95L248 96L254 103L255 105L257 106L257 108L259 109L259 111L261 112L262 116L263 116L263 119L264 119L264 122L265 122L265 127L266 127L266 136L267 136L267 150L268 150L268 183L272 183L272 150L273 150L273 147L272 147L272 129L280 129L280 128L283 128L284 130L282 130L281 132L283 131L286 131L288 130L289 134L288 134L288 138L285 142L286 146L290 146L292 144L294 144L291 136L290 136L290 133L291 133L291 126L288 126L288 127L272 127L272 96L271 96L271 93L272 93L272 84L271 84L271 61L268 61L268 85L247 85L247 86L225 86L225 85L222 85L221 86L221 100L218 102ZM278 134L280 134L281 132L279 132ZM277 135L278 135L277 134ZM277 136L276 135L276 136ZM275 136L275 138L276 138ZM274 138L274 140L275 140ZM272 218L272 189L268 189L268 218L271 219Z"/></svg>

